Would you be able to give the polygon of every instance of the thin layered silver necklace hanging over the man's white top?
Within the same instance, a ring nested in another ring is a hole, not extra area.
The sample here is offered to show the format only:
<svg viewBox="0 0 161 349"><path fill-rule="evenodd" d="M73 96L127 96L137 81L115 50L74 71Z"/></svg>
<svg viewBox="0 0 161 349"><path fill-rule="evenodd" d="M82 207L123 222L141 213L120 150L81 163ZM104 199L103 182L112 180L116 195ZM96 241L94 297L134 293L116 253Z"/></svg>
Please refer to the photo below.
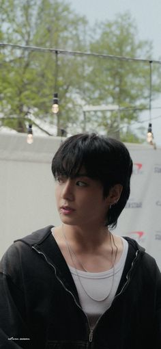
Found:
<svg viewBox="0 0 161 349"><path fill-rule="evenodd" d="M76 259L77 263L81 266L81 268L83 269L84 272L88 272L88 270L83 266L83 263L81 263L80 259L78 259L78 257L76 257L76 254L74 253L74 251L72 250L68 240L67 240L67 237L65 235L65 231L64 231L64 228L63 228L63 224L61 226L61 231L62 231L62 235L63 235L63 238L65 240L65 245L67 247L67 250L68 250L68 253L70 255L70 259L72 261L72 265L74 266L74 270L76 272L76 275L78 277L78 281L79 283L81 284L81 287L83 288L85 294L87 294L87 296L89 298L91 298L92 300L95 300L97 302L102 302L103 300L106 300L110 295L111 295L111 291L113 289L113 282L114 282L114 276L115 276L115 261L117 259L117 252L118 252L118 248L117 248L117 245L115 244L115 240L114 240L114 237L113 237L113 234L110 233L110 243L111 243L111 266L112 266L112 269L113 269L113 275L112 275L112 281L111 281L111 287L110 287L110 290L108 292L108 294L106 294L106 296L104 296L104 298L93 298L88 292L87 290L85 289L82 281L81 281L81 277L79 276L79 273L78 273L78 270L76 268L76 263L74 262L74 258ZM112 242L113 240L113 242ZM115 246L115 252L114 252L114 248L113 248L113 245Z"/></svg>

